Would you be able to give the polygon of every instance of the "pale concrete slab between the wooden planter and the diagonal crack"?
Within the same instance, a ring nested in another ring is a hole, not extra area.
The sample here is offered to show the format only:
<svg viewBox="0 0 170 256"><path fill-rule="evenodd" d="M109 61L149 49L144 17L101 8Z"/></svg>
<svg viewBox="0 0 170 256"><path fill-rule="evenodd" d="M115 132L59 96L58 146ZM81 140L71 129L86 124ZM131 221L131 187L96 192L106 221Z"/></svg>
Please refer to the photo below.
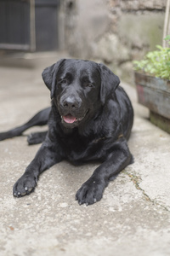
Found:
<svg viewBox="0 0 170 256"><path fill-rule="evenodd" d="M129 146L134 146L133 154L134 157L136 155L138 158L131 166L131 172L134 173L134 176L138 176L139 188L144 191L145 195L148 195L150 201L160 204L169 211L170 165L168 159L170 157L170 136L167 132L150 124L147 119L148 114L146 113L144 116L144 112L147 112L145 108L141 106L136 108L135 103L133 106L136 115ZM142 122L141 118L143 118ZM138 144L134 145L136 138L138 138Z"/></svg>

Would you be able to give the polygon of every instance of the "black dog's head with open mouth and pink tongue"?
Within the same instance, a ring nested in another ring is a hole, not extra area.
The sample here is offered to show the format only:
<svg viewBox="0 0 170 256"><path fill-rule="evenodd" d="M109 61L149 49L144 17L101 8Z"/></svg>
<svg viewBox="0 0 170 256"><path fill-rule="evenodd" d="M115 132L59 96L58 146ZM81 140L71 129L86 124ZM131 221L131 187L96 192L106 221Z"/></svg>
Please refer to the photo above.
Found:
<svg viewBox="0 0 170 256"><path fill-rule="evenodd" d="M51 91L63 125L73 128L93 117L120 83L103 64L62 59L47 67L42 79Z"/></svg>

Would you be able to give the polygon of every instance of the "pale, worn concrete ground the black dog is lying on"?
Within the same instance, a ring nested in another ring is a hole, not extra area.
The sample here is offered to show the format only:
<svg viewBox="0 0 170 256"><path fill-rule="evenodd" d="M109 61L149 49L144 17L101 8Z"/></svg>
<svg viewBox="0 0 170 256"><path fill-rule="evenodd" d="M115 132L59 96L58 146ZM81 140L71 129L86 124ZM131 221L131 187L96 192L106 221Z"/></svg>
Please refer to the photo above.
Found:
<svg viewBox="0 0 170 256"><path fill-rule="evenodd" d="M62 56L27 54L25 60L1 61L0 131L50 104L41 73ZM13 184L39 145L28 147L25 136L0 142L0 255L170 255L170 136L150 124L135 90L122 86L135 111L129 140L135 161L93 206L79 206L75 194L96 164L61 162L42 173L34 193L14 198Z"/></svg>

